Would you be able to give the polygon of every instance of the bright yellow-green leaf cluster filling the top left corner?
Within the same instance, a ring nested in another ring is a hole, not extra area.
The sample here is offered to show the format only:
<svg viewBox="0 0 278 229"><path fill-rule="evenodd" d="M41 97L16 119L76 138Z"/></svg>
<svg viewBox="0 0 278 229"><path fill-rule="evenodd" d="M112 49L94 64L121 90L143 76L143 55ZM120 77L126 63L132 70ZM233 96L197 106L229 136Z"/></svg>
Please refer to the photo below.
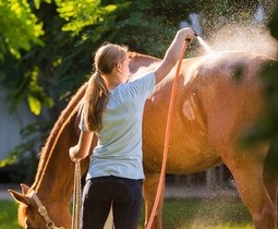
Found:
<svg viewBox="0 0 278 229"><path fill-rule="evenodd" d="M0 60L7 52L16 59L21 49L31 50L33 44L43 45L43 23L32 12L27 0L0 1Z"/></svg>

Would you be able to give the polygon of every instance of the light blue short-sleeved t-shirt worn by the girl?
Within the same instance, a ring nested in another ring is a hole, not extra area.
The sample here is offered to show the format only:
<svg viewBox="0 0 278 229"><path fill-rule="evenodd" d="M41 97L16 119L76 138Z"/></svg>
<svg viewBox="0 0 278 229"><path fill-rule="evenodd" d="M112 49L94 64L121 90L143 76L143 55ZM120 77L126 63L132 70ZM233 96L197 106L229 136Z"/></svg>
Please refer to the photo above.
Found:
<svg viewBox="0 0 278 229"><path fill-rule="evenodd" d="M145 178L142 165L142 119L145 100L153 93L155 84L156 77L152 72L110 91L87 179L104 176ZM81 126L86 131L83 119Z"/></svg>

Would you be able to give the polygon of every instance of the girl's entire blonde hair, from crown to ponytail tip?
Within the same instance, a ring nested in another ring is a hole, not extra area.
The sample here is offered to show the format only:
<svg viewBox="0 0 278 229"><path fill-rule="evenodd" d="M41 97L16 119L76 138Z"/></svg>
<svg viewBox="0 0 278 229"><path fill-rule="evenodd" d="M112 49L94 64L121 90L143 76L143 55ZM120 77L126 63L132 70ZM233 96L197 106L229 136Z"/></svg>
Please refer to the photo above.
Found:
<svg viewBox="0 0 278 229"><path fill-rule="evenodd" d="M102 128L102 113L109 99L102 74L111 73L114 65L124 60L126 51L125 46L106 44L95 55L95 72L88 81L84 106L85 125L89 131L98 132Z"/></svg>

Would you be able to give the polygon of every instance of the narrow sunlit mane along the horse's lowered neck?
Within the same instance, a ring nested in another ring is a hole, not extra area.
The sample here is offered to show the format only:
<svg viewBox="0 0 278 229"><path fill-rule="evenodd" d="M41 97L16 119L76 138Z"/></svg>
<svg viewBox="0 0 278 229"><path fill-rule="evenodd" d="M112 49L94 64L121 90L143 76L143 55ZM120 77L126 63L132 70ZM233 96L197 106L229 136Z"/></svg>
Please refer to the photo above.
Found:
<svg viewBox="0 0 278 229"><path fill-rule="evenodd" d="M72 97L68 106L63 109L61 114L59 116L57 122L55 123L52 130L47 137L45 146L41 148L40 152L40 159L37 168L37 173L34 182L34 186L39 183L40 178L43 178L44 169L46 168L46 164L48 162L51 156L51 148L56 144L57 137L59 137L60 131L63 128L64 122L74 113L75 109L77 108L78 103L82 100L83 96L85 95L87 87L87 82L84 83L76 92L76 94Z"/></svg>

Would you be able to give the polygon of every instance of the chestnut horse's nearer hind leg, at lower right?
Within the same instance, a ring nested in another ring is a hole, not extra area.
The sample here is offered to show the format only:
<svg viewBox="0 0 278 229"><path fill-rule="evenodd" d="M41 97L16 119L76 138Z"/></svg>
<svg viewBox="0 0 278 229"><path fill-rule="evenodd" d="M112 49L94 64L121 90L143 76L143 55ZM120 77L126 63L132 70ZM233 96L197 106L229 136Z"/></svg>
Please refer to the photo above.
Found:
<svg viewBox="0 0 278 229"><path fill-rule="evenodd" d="M253 150L227 150L223 159L230 169L243 203L249 208L256 229L276 229L276 210L263 180L266 147ZM227 149L227 148L226 148Z"/></svg>

